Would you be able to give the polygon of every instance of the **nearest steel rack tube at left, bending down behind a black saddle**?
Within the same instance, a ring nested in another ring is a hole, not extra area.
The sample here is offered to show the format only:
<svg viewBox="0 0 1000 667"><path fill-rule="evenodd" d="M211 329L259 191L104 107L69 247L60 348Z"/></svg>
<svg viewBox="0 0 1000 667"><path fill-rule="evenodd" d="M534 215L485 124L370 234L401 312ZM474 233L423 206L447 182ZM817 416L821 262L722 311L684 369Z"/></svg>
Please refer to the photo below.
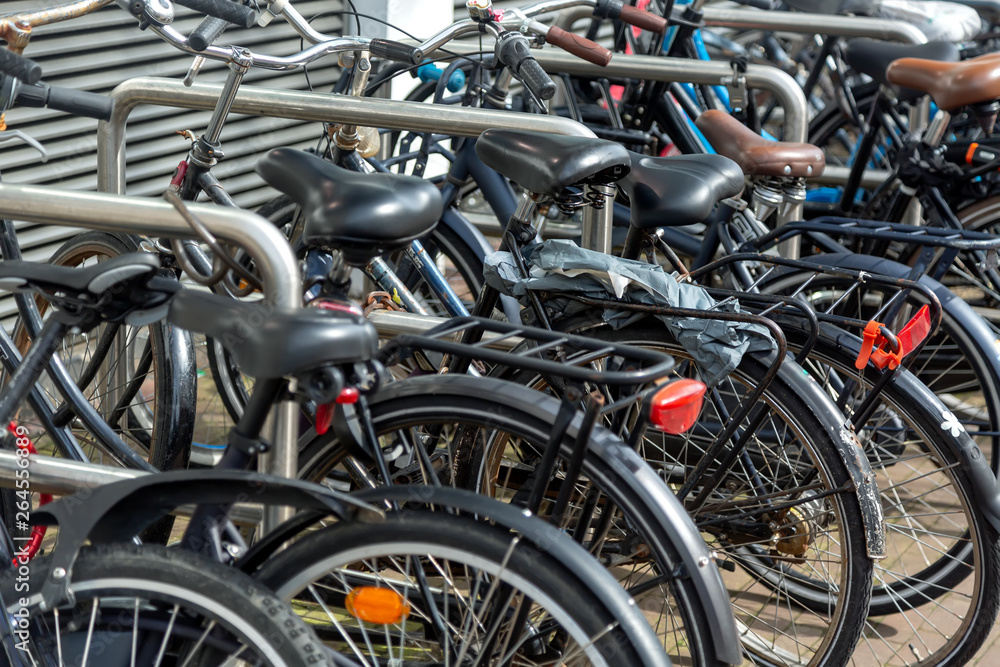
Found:
<svg viewBox="0 0 1000 667"><path fill-rule="evenodd" d="M279 307L301 306L298 263L274 225L249 211L205 204L191 204L189 208L217 238L243 248L253 258L263 279L265 298ZM0 217L155 237L192 236L181 215L164 201L30 185L0 184ZM268 471L294 477L298 467L297 444L295 438L276 440ZM0 467L0 480L13 479L9 467ZM72 486L75 479L75 476L66 478L67 488L77 488ZM268 513L267 524L276 525L273 522L285 516L290 516L289 509L275 508Z"/></svg>

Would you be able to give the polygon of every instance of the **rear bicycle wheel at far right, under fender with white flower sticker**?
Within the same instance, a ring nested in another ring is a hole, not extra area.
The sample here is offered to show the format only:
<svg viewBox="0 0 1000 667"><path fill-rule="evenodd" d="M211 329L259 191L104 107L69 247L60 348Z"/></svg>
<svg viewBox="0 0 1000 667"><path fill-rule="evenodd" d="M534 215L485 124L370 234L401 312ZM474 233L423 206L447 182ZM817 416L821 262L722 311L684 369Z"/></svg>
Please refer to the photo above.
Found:
<svg viewBox="0 0 1000 667"><path fill-rule="evenodd" d="M803 336L792 328L789 345L796 346ZM850 414L880 373L871 366L858 373L860 343L848 345L845 336L824 332L804 367L833 396L854 383L841 400ZM875 565L870 615L853 659L962 665L986 640L1000 607L1000 534L977 506L945 406L906 371L878 400L857 433L881 490L887 557Z"/></svg>

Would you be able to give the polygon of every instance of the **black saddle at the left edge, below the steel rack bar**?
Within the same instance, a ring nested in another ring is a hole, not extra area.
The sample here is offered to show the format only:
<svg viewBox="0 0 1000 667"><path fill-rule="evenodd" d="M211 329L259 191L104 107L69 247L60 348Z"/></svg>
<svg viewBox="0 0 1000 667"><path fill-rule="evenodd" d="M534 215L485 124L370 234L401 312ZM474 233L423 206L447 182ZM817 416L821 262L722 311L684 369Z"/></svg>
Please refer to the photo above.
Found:
<svg viewBox="0 0 1000 667"><path fill-rule="evenodd" d="M0 289L99 297L128 282L144 284L159 268L159 257L150 253L121 255L86 267L4 260L0 262Z"/></svg>

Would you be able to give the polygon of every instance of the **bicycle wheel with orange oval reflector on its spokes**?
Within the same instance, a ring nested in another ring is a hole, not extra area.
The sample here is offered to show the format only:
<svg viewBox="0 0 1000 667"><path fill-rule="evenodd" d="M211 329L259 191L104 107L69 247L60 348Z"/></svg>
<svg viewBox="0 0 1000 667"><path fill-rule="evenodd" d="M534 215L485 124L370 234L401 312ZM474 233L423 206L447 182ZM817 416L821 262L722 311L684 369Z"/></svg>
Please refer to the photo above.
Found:
<svg viewBox="0 0 1000 667"><path fill-rule="evenodd" d="M507 530L426 510L308 535L255 575L335 650L388 664L642 665L573 571ZM421 581L423 579L423 581ZM405 621L348 612L357 586L395 591Z"/></svg>

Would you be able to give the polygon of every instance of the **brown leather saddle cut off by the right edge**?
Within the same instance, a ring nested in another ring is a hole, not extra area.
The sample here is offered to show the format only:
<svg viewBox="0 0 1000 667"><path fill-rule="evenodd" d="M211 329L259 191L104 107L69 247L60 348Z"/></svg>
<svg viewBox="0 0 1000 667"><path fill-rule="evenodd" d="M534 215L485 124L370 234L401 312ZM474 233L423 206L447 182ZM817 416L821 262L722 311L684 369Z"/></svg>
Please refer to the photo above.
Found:
<svg viewBox="0 0 1000 667"><path fill-rule="evenodd" d="M902 58L886 69L886 79L927 93L945 111L1000 98L1000 58L986 54L958 63Z"/></svg>

